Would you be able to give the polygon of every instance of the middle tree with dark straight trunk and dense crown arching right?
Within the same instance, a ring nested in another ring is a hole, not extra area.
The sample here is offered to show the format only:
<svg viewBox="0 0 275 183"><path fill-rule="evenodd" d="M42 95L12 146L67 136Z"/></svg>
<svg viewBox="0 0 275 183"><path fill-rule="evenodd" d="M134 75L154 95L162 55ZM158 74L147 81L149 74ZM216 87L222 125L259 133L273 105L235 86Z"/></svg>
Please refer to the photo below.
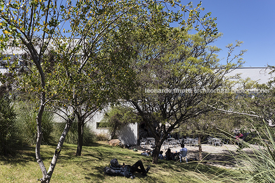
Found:
<svg viewBox="0 0 275 183"><path fill-rule="evenodd" d="M160 2L174 6L172 1ZM54 74L50 73L51 80L57 85L53 85L54 90L49 88L48 91L56 92L56 86L59 87L58 96L52 93L49 98L52 100L52 97L58 97L55 100L59 104L58 108L62 106L72 111L78 119L76 155L81 155L86 119L132 90L134 74L129 63L136 54L128 42L132 32L142 29L150 36L152 32L161 32L169 23L181 20L182 14L178 12L159 12L156 3L87 1L77 2L73 8L66 10L64 18L72 23L70 34L55 42L57 48L62 48L55 54L59 55L56 59L64 60L66 64L58 65ZM192 12L199 13L198 7ZM189 11L185 6L182 9ZM190 13L188 20L195 19L195 16L198 15ZM207 16L203 18L207 19ZM162 19L166 20L165 24L160 21ZM211 21L208 20L209 23ZM215 31L210 28L209 31ZM68 59L64 59L66 57L74 57L76 62L68 62Z"/></svg>

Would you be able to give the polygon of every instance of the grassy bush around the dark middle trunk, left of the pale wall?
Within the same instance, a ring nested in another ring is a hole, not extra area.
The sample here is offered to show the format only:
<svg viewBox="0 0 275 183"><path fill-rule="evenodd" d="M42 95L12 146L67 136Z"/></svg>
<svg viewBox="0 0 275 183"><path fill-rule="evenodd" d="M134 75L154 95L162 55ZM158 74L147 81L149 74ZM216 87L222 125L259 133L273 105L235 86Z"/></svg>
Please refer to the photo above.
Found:
<svg viewBox="0 0 275 183"><path fill-rule="evenodd" d="M54 138L56 141L60 139L60 136L65 128L66 123L55 123L54 124ZM74 122L71 125L71 128L66 136L65 143L68 144L77 144L78 141L78 132L77 132L77 123ZM94 143L96 137L95 134L85 125L83 133L83 145L89 146Z"/></svg>

